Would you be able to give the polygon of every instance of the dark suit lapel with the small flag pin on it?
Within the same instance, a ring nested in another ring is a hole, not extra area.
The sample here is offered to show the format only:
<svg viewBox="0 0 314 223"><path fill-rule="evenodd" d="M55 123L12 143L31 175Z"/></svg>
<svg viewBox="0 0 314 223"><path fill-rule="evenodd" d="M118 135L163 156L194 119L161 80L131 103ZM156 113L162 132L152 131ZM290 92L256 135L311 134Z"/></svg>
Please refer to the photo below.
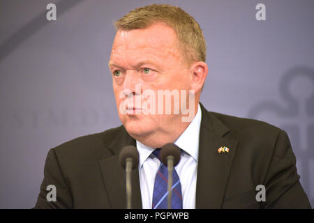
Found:
<svg viewBox="0 0 314 223"><path fill-rule="evenodd" d="M201 108L195 208L221 208L238 142L223 137L229 132L227 127ZM221 146L229 148L229 153L218 153Z"/></svg>

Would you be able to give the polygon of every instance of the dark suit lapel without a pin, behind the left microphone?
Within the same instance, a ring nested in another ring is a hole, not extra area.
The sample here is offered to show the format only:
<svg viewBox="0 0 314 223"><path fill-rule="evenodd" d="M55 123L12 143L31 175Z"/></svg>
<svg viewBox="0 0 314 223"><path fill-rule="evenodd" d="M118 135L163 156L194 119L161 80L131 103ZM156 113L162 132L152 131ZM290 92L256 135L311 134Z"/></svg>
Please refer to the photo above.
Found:
<svg viewBox="0 0 314 223"><path fill-rule="evenodd" d="M123 126L118 134L111 139L109 148L114 153L112 157L99 160L100 170L103 174L103 182L107 190L112 208L126 208L126 175L119 163L119 153L124 146L135 146L135 139L130 137ZM140 192L140 178L138 169L132 171L132 208L142 208Z"/></svg>

